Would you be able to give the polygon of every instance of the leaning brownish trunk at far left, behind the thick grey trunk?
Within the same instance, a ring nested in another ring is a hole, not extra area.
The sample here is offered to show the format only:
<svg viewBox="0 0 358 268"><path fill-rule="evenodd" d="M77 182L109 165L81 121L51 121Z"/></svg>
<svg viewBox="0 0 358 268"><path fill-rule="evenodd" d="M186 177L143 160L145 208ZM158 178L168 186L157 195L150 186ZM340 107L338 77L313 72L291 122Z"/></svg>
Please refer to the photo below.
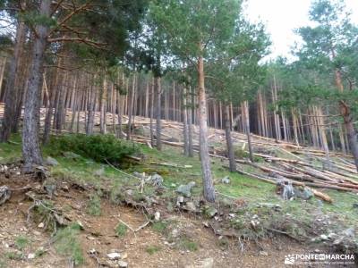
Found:
<svg viewBox="0 0 358 268"><path fill-rule="evenodd" d="M25 42L25 23L19 21L16 29L16 43L13 51L13 57L10 62L10 70L5 89L5 106L4 106L4 121L0 132L0 142L5 142L10 138L13 130L13 118L16 113L16 100L19 96L18 88L15 87L16 80L19 75L19 63L21 57L21 50Z"/></svg>

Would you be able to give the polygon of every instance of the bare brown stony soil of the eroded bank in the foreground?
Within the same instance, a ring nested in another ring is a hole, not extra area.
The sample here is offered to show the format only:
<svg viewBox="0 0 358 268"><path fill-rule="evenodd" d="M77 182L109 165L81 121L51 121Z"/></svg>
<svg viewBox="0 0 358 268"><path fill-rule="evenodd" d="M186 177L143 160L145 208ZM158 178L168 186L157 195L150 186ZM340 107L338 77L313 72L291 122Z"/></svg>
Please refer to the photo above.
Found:
<svg viewBox="0 0 358 268"><path fill-rule="evenodd" d="M2 185L12 189L39 187L39 183L30 176L13 175L7 179L4 174L0 174L0 186ZM107 258L107 253L115 249L122 255L127 255L124 261L129 267L163 268L195 267L206 258L214 259L214 267L285 267L285 255L309 253L315 249L285 237L260 241L258 244L247 242L243 244L243 250L234 241L229 241L226 247L220 247L219 239L212 230L205 228L200 218L191 214L166 214L162 217L170 217L185 230L187 237L197 243L198 250L193 252L171 247L166 236L150 226L139 230L136 235L128 230L124 238L118 238L115 236L115 226L119 219L132 229L136 229L147 222L146 217L132 207L113 205L107 200L102 200L100 216L90 216L86 213L89 193L72 188L66 182L63 182L63 186L53 201L55 208L64 212L66 218L72 222L81 222L84 227L79 237L85 257L85 264L82 267L98 267L97 261L88 255L91 249L96 249L98 257L103 259ZM24 236L30 239L30 245L22 250L23 259L6 260L8 267L68 267L68 259L58 255L55 247L49 245L51 233L38 228L38 222L27 222L28 209L32 204L22 190L14 191L12 198L0 206L0 256L16 250L16 237ZM158 252L149 255L149 246L159 247ZM38 247L44 247L47 252L34 259L28 259L27 256L34 253Z"/></svg>

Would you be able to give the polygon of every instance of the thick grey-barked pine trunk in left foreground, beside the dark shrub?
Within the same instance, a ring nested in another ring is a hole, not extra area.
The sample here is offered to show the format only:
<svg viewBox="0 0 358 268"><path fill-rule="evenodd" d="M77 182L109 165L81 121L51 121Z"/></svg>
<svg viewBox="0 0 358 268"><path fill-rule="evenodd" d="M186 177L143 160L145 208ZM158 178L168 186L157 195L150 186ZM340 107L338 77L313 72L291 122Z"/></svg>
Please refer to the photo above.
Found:
<svg viewBox="0 0 358 268"><path fill-rule="evenodd" d="M43 18L50 14L51 0L42 0L39 13ZM23 116L22 156L24 172L31 172L35 164L42 164L42 155L38 142L39 103L42 87L44 54L47 46L47 25L38 24L38 35L32 49L30 77L25 96Z"/></svg>

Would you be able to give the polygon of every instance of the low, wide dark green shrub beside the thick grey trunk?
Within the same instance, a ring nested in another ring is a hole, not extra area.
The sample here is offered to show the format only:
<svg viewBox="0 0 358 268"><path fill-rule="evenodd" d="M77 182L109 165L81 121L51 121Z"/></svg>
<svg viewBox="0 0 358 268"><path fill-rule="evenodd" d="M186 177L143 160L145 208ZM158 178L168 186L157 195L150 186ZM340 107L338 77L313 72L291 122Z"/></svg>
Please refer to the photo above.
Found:
<svg viewBox="0 0 358 268"><path fill-rule="evenodd" d="M133 143L115 138L113 135L72 134L52 137L47 149L50 155L61 155L71 151L99 163L119 164L124 157L140 152Z"/></svg>

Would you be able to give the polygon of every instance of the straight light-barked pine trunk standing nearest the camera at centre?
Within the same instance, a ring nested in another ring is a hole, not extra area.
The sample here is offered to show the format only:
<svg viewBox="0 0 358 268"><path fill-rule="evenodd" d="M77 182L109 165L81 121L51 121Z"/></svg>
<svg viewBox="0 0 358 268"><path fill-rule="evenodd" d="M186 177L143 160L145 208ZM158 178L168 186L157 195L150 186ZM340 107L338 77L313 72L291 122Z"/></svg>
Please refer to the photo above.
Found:
<svg viewBox="0 0 358 268"><path fill-rule="evenodd" d="M201 48L201 45L200 45ZM204 198L209 202L215 202L215 188L211 177L208 143L208 116L205 96L205 73L202 56L198 60L198 100L199 100L199 123L200 123L200 163L202 172L202 184Z"/></svg>

